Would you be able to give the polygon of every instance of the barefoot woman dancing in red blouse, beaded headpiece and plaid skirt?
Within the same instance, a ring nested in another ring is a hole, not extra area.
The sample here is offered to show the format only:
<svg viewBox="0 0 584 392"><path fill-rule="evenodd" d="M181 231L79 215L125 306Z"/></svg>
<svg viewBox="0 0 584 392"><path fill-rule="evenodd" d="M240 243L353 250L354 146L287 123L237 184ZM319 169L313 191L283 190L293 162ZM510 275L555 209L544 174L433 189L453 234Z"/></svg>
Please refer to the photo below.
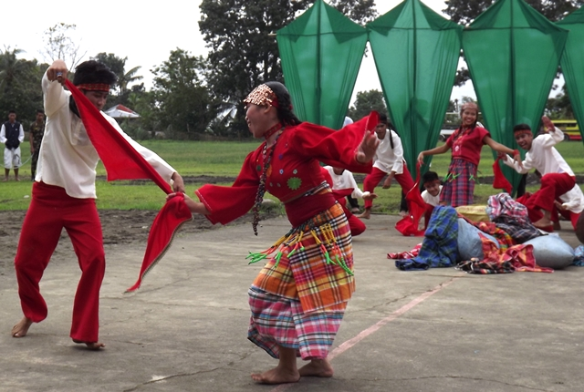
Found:
<svg viewBox="0 0 584 392"><path fill-rule="evenodd" d="M349 224L319 161L370 171L379 144L372 132L378 116L373 112L338 131L300 122L287 89L277 82L255 88L244 102L249 130L266 141L247 156L231 187L205 185L196 191L201 202L185 201L213 223L231 222L253 209L255 234L264 192L284 203L292 229L266 251L248 257L267 263L248 292L247 337L279 360L252 378L280 384L301 376L332 377L328 349L355 280ZM310 362L298 369L297 356Z"/></svg>

